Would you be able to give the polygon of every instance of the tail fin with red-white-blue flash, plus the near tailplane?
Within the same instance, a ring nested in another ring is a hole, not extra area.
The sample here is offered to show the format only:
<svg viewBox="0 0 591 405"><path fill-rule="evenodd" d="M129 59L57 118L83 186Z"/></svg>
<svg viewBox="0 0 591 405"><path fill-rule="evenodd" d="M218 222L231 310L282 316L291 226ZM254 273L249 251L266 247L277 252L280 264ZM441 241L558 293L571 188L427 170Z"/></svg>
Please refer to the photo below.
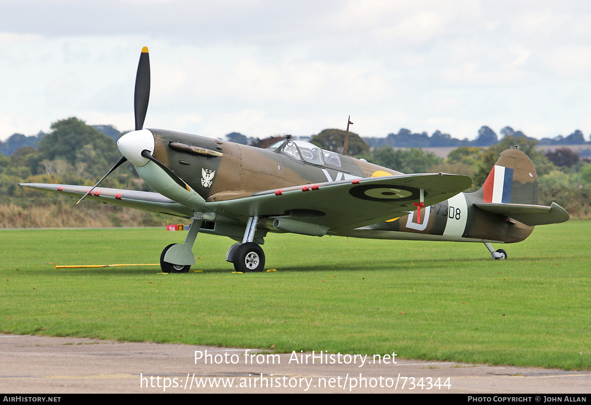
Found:
<svg viewBox="0 0 591 405"><path fill-rule="evenodd" d="M556 203L538 205L538 176L534 164L518 149L501 152L484 185L472 195L482 210L514 218L528 226L567 221L569 213Z"/></svg>

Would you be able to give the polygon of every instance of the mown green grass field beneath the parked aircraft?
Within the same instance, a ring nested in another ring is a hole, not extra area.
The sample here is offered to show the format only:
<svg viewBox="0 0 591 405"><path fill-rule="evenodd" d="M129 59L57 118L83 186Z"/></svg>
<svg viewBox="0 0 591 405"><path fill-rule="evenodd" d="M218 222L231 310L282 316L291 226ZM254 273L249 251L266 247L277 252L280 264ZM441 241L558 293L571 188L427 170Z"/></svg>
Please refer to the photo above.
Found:
<svg viewBox="0 0 591 405"><path fill-rule="evenodd" d="M591 370L591 221L482 244L270 234L267 269L232 274L232 240L200 235L193 269L156 263L164 228L1 230L0 331L387 354Z"/></svg>

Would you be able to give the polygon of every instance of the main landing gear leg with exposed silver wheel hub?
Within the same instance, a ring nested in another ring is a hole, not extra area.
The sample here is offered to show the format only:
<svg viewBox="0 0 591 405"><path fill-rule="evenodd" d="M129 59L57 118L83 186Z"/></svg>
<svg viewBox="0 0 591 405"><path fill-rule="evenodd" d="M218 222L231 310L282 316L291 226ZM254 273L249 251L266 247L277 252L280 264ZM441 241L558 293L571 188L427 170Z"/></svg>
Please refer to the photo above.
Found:
<svg viewBox="0 0 591 405"><path fill-rule="evenodd" d="M248 218L242 243L233 244L226 253L226 262L234 263L236 272L262 272L265 267L265 253L254 243L257 225L258 217Z"/></svg>

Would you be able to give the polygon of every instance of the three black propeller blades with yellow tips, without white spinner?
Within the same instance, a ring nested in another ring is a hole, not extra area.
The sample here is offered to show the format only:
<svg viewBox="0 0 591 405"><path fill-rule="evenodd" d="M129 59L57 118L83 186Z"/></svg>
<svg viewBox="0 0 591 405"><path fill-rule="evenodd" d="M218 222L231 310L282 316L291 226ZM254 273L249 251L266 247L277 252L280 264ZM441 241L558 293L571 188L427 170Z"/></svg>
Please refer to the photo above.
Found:
<svg viewBox="0 0 591 405"><path fill-rule="evenodd" d="M138 71L135 75L135 92L134 92L134 115L135 115L135 130L141 130L144 128L144 120L148 111L148 101L150 100L150 54L148 53L148 47L142 48L142 53L139 56ZM182 181L176 174L174 174L167 166L162 162L158 161L154 156L151 155L150 151L142 151L141 155L144 158L150 159L155 162L160 168L162 168L166 174L168 174L178 185L189 190L187 184ZM128 159L125 156L121 156L119 160L113 165L113 167L100 179L85 195L78 200L76 204L84 200L95 188L102 182L113 170L121 166Z"/></svg>

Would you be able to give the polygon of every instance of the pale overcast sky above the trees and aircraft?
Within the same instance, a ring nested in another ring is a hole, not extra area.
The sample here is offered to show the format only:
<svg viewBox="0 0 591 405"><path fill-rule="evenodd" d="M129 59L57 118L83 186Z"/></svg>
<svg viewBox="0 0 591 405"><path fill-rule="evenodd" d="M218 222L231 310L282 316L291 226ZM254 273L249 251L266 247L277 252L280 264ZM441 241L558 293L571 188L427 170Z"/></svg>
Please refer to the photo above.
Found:
<svg viewBox="0 0 591 405"><path fill-rule="evenodd" d="M0 0L0 139L71 116L222 137L591 132L591 2Z"/></svg>

